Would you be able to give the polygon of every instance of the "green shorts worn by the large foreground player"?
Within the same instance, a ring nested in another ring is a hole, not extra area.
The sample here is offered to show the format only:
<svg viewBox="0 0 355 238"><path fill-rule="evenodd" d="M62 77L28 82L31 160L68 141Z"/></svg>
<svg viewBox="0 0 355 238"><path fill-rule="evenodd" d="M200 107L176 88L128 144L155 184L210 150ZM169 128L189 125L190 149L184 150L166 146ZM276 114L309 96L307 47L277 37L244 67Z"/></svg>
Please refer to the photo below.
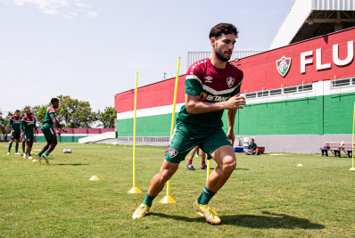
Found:
<svg viewBox="0 0 355 238"><path fill-rule="evenodd" d="M187 126L177 122L170 144L165 152L165 160L179 163L185 160L186 154L199 145L202 152L206 152L207 159L211 153L224 145L232 146L227 135L221 127L202 129L201 127Z"/></svg>

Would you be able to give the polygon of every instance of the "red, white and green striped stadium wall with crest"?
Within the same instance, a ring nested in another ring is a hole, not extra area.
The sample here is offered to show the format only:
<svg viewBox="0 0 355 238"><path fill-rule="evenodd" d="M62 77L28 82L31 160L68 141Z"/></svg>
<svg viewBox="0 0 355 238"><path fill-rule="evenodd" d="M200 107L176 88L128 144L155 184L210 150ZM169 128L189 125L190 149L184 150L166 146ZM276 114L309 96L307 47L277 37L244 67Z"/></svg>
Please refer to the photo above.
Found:
<svg viewBox="0 0 355 238"><path fill-rule="evenodd" d="M311 153L328 140L351 141L354 40L355 29L348 29L233 62L244 71L241 93L247 99L237 111L235 135L254 137L266 152ZM284 77L277 70L283 56L291 59ZM169 136L174 82L138 88L136 136ZM176 112L184 90L181 76ZM134 90L116 94L119 143L133 135L133 105ZM227 131L226 113L223 121Z"/></svg>

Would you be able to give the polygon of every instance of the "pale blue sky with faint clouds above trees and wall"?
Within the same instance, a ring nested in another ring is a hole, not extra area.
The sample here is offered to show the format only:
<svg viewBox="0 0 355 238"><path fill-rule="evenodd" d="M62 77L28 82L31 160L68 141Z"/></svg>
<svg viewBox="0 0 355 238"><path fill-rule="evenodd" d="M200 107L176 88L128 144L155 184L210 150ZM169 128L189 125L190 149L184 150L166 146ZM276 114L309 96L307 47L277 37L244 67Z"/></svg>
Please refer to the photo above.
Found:
<svg viewBox="0 0 355 238"><path fill-rule="evenodd" d="M186 73L186 53L210 51L219 22L235 50L267 50L293 0L0 0L0 110L58 94L113 106L114 95ZM169 95L167 95L169 96ZM172 96L172 95L171 95Z"/></svg>

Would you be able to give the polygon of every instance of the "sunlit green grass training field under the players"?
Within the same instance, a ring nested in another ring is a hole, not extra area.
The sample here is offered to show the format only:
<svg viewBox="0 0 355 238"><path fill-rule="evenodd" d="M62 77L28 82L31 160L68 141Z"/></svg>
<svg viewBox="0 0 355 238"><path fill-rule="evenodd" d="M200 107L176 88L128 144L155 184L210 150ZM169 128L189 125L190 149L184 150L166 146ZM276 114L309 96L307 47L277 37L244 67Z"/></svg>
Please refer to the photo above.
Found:
<svg viewBox="0 0 355 238"><path fill-rule="evenodd" d="M197 158L198 169L186 170L184 161L171 179L177 203L159 203L164 190L150 216L132 220L164 147L137 147L136 186L144 193L129 194L131 146L58 144L50 165L15 156L14 148L6 156L6 146L0 144L1 237L355 236L355 172L348 158L237 154L235 172L211 201L222 223L211 226L192 209L206 178Z"/></svg>

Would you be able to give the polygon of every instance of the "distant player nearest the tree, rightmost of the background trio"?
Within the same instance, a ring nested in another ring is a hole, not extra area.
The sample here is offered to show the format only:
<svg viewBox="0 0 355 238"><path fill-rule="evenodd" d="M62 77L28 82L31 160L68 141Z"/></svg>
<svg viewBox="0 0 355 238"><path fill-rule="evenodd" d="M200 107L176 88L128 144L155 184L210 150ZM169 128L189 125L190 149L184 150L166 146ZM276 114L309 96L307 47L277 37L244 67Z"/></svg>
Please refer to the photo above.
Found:
<svg viewBox="0 0 355 238"><path fill-rule="evenodd" d="M43 147L42 151L36 154L38 157L38 161L41 162L41 156L45 159L45 162L49 164L48 155L50 152L53 152L57 143L57 134L60 134L60 129L62 129L61 124L56 118L55 109L59 107L59 99L52 98L51 99L51 106L47 108L45 111L45 120L43 121L41 130L45 135L45 140L47 144ZM54 128L55 130L54 130ZM63 130L65 132L65 130ZM45 154L43 154L45 153Z"/></svg>

